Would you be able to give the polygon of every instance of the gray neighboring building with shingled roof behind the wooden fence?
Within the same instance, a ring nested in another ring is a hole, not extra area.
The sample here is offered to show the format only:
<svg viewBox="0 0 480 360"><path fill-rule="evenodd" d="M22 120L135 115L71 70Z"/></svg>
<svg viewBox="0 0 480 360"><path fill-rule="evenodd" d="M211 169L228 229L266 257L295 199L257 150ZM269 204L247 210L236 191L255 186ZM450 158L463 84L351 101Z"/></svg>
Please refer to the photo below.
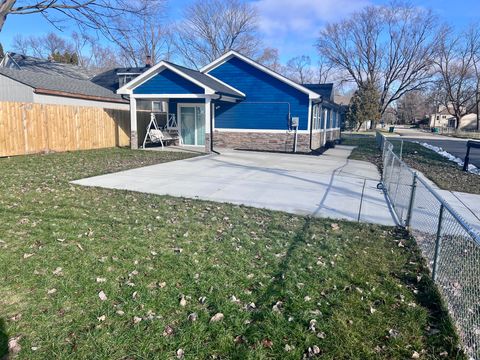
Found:
<svg viewBox="0 0 480 360"><path fill-rule="evenodd" d="M7 53L0 61L0 101L128 110L129 102L75 65Z"/></svg>

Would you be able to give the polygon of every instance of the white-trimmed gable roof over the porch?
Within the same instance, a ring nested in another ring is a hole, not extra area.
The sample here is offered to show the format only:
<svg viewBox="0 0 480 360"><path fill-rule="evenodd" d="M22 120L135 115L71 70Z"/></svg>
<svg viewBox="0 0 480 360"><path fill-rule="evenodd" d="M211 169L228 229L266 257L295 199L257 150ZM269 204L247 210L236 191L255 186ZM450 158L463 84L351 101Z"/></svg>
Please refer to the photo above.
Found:
<svg viewBox="0 0 480 360"><path fill-rule="evenodd" d="M224 82L214 78L211 75L203 74L197 70L189 69L184 66L173 64L168 61L161 61L143 74L139 75L132 81L128 82L120 89L117 90L117 94L132 94L133 90L145 81L148 81L153 76L157 75L164 69L169 69L176 74L186 78L192 83L205 89L206 94L222 94L234 97L244 97L245 94L241 91L225 84Z"/></svg>

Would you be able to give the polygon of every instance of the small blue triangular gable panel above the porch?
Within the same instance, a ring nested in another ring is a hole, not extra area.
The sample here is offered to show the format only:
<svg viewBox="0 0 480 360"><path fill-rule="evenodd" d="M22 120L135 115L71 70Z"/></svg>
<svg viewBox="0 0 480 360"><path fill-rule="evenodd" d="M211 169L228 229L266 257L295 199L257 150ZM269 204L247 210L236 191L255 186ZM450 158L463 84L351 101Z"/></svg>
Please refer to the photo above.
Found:
<svg viewBox="0 0 480 360"><path fill-rule="evenodd" d="M204 94L205 90L165 69L133 90L134 94Z"/></svg>

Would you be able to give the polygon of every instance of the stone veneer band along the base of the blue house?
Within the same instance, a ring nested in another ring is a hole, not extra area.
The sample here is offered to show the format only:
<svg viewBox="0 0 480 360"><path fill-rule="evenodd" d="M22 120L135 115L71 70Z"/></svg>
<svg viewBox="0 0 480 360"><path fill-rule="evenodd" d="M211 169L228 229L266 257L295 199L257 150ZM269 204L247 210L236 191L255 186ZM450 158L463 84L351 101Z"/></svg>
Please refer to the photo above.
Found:
<svg viewBox="0 0 480 360"><path fill-rule="evenodd" d="M214 148L264 150L264 151L293 151L293 132L265 133L265 132L228 132L215 130L213 134ZM312 133L312 149L316 150L323 145L323 132ZM340 137L340 130L328 131L327 141ZM205 150L210 151L210 134L205 134ZM297 136L297 151L310 152L310 134L299 133Z"/></svg>

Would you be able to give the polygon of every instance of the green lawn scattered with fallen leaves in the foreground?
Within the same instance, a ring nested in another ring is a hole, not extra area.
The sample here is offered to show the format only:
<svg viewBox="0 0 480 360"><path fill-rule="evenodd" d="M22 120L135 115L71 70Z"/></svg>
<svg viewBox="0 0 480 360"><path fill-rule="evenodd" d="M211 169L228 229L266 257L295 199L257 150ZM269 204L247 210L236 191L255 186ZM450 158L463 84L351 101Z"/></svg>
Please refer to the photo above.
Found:
<svg viewBox="0 0 480 360"><path fill-rule="evenodd" d="M186 156L0 159L0 358L463 358L399 230L69 184Z"/></svg>

